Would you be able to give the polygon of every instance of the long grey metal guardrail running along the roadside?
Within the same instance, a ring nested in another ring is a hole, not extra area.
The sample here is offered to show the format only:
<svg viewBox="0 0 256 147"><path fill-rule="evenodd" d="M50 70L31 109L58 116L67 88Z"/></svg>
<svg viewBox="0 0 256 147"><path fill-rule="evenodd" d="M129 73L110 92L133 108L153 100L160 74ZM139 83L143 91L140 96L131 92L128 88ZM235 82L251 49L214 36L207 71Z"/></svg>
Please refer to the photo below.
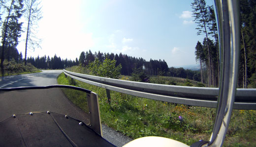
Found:
<svg viewBox="0 0 256 147"><path fill-rule="evenodd" d="M107 90L137 97L193 106L217 107L218 88L142 83L74 73L66 70L64 70L64 74ZM237 89L233 109L256 110L256 89Z"/></svg>

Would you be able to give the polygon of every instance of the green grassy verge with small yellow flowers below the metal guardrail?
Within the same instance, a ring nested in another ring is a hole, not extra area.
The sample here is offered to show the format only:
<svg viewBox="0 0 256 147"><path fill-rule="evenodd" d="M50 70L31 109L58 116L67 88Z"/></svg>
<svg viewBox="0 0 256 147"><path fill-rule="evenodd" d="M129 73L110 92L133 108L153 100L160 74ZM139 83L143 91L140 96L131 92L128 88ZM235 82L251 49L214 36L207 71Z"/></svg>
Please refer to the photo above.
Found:
<svg viewBox="0 0 256 147"><path fill-rule="evenodd" d="M187 82L186 79L184 81ZM200 139L210 139L215 108L175 105L114 91L111 91L111 102L108 103L106 90L103 88L72 80L70 77L66 78L63 73L59 76L58 82L96 92L99 96L102 123L131 138L162 136L187 145L192 145ZM190 83L196 85L192 81ZM79 100L74 101L79 104ZM183 117L182 121L179 120L179 116ZM255 130L255 110L233 110L224 147L256 145Z"/></svg>

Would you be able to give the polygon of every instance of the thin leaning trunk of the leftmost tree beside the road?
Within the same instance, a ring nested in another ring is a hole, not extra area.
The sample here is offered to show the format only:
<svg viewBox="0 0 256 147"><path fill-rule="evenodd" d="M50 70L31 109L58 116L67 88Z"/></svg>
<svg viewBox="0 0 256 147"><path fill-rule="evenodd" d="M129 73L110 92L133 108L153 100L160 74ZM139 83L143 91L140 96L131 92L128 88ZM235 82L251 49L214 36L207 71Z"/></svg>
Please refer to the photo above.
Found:
<svg viewBox="0 0 256 147"><path fill-rule="evenodd" d="M1 56L1 74L2 76L4 75L4 71L3 71L3 60L4 60L4 46L5 46L5 41L6 41L6 35L7 35L7 28L8 28L8 22L9 22L9 19L10 19L10 14L11 14L11 9L12 9L12 4L13 4L14 0L11 1L11 5L10 5L10 8L9 8L9 13L8 13L8 17L7 17L7 20L6 20L6 24L5 24L5 27L4 27L4 33L3 33L3 41L2 41L2 56Z"/></svg>

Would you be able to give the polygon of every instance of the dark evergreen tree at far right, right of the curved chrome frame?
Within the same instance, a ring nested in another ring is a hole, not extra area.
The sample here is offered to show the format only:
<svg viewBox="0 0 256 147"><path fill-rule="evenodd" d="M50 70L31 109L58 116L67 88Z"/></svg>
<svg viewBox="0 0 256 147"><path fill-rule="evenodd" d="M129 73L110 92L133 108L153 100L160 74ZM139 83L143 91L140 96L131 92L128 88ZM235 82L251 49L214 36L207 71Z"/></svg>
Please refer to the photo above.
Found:
<svg viewBox="0 0 256 147"><path fill-rule="evenodd" d="M256 82L256 2L240 0L241 49L240 76L238 83L247 88Z"/></svg>

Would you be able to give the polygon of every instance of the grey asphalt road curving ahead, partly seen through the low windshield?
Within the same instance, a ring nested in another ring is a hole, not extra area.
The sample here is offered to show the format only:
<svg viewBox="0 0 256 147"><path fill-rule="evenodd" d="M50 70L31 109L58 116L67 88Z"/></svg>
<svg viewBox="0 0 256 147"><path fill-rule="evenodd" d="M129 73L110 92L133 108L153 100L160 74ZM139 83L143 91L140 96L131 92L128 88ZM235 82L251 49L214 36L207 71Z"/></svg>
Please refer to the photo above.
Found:
<svg viewBox="0 0 256 147"><path fill-rule="evenodd" d="M6 76L0 78L0 88L14 88L14 87L28 87L28 86L48 86L55 85L57 83L57 77L62 70L47 70L42 71L42 73L31 73L31 74L22 74L22 75L14 75L14 76ZM32 95L44 95L41 93L42 91L34 90ZM17 93L17 96L22 97L22 93ZM12 114L14 114L16 109L23 108L24 113L29 112L30 110L26 110L27 105L31 105L36 102L40 102L40 106L34 107L33 111L46 111L51 110L53 112L68 114L69 116L73 116L74 118L86 122L86 114L81 111L81 109L74 106L72 102L70 102L67 98L64 97L61 91L52 91L51 98L45 97L43 100L22 100L15 99L9 100L6 98L1 98L0 102L0 121ZM27 95L24 98L29 98ZM49 103L51 101L51 103ZM6 103L9 103L8 105ZM43 104L42 104L43 103ZM9 108L14 108L12 111L9 111ZM70 111L70 107L73 108L73 111ZM8 110L8 112L6 112ZM20 112L23 113L23 112ZM123 134L116 132L115 130L107 127L106 125L102 125L102 133L103 137L109 141L110 143L116 145L117 147L122 147L132 139L124 136Z"/></svg>

